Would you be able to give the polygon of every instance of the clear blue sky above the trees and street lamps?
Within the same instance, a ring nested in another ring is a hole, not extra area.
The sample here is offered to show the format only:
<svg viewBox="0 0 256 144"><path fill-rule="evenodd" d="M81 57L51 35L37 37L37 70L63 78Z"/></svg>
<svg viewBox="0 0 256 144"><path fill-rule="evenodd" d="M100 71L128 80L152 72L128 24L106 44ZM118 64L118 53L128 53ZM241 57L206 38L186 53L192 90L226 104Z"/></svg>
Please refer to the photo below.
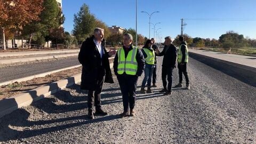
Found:
<svg viewBox="0 0 256 144"><path fill-rule="evenodd" d="M66 31L73 30L74 14L84 3L108 26L135 29L135 0L62 0ZM161 28L158 30L162 31L159 33L161 37L174 38L180 34L180 19L185 18L187 26L183 33L191 37L219 39L226 31L234 30L244 37L256 39L256 0L137 0L137 4L138 33L146 37L149 36L149 17L141 11L159 11L152 15L150 22L161 22L156 25L156 29ZM150 37L153 35L154 30L151 29Z"/></svg>

